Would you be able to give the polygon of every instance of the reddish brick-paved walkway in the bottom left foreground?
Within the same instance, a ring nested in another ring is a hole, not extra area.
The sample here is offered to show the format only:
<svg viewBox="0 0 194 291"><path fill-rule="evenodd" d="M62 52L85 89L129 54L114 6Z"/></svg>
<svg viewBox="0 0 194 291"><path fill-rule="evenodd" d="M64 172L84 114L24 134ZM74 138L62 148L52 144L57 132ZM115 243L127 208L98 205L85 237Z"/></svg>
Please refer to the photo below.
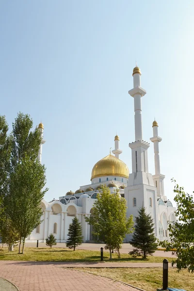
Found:
<svg viewBox="0 0 194 291"><path fill-rule="evenodd" d="M63 262L0 261L0 277L20 291L137 291L108 278L60 268L66 266Z"/></svg>

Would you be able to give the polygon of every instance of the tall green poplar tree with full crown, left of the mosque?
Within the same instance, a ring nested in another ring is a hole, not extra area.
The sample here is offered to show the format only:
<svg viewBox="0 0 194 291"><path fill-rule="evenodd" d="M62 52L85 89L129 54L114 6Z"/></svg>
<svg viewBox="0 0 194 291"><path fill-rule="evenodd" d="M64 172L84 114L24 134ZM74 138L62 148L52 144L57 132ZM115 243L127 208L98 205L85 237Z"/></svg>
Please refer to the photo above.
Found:
<svg viewBox="0 0 194 291"><path fill-rule="evenodd" d="M41 200L48 189L46 168L37 159L41 132L33 131L32 119L28 114L18 113L13 123L12 151L9 169L9 187L4 198L6 213L19 234L19 251L32 230L41 223ZM43 190L44 189L44 190Z"/></svg>

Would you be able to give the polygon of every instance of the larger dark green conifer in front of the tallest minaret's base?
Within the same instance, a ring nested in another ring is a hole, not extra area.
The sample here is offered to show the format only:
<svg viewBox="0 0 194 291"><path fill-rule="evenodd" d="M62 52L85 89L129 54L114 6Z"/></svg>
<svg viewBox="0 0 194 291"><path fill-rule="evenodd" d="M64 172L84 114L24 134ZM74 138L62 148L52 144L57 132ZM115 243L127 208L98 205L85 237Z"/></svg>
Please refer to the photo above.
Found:
<svg viewBox="0 0 194 291"><path fill-rule="evenodd" d="M138 210L139 216L135 217L135 226L131 244L135 248L129 252L130 255L143 256L152 255L157 249L156 237L154 235L154 222L150 214L146 213L146 208Z"/></svg>

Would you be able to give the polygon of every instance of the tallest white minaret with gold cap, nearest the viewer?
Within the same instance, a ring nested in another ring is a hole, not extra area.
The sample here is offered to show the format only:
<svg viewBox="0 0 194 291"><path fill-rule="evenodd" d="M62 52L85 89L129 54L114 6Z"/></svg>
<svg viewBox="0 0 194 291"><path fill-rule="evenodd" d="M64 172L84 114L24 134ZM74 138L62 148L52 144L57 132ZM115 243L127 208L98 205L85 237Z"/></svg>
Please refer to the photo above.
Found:
<svg viewBox="0 0 194 291"><path fill-rule="evenodd" d="M135 141L129 144L132 156L132 173L129 174L128 185L125 187L125 199L127 200L127 217L138 216L138 210L142 206L146 208L154 220L155 235L159 237L159 214L157 189L152 175L148 172L147 149L150 144L143 140L142 135L142 104L141 98L146 95L146 90L141 87L141 71L136 65L133 69L133 89L129 95L134 98L135 112ZM132 235L127 235L127 241Z"/></svg>

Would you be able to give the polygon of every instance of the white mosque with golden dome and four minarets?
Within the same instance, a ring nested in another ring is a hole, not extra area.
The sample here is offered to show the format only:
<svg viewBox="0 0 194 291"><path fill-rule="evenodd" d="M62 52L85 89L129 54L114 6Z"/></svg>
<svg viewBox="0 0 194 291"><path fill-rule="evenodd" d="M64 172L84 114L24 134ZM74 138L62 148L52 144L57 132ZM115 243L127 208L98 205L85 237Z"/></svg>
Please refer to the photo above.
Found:
<svg viewBox="0 0 194 291"><path fill-rule="evenodd" d="M154 143L155 173L148 172L147 149L150 144L143 140L142 135L142 104L141 98L146 95L146 90L141 87L141 71L136 65L133 69L133 88L129 90L129 95L134 98L135 117L135 141L129 144L132 155L132 172L125 162L121 161L119 155L119 137L114 138L115 149L110 154L98 161L91 174L91 183L81 186L75 192L69 191L58 200L50 202L42 200L43 222L37 226L32 234L27 238L27 242L46 242L46 238L53 233L57 242L66 242L68 228L73 217L77 216L81 222L84 242L94 242L92 226L85 222L84 215L89 217L93 214L93 204L97 198L97 193L102 185L110 188L111 194L118 189L121 197L127 200L127 217L132 214L138 215L137 210L144 205L147 213L150 213L155 223L155 235L163 241L169 240L167 221L175 221L174 214L176 208L164 194L164 175L160 170L159 142L162 138L158 135L158 123L154 120L153 137ZM38 153L41 162L44 126L39 124L42 133L42 142ZM125 242L129 242L132 235L126 235Z"/></svg>

